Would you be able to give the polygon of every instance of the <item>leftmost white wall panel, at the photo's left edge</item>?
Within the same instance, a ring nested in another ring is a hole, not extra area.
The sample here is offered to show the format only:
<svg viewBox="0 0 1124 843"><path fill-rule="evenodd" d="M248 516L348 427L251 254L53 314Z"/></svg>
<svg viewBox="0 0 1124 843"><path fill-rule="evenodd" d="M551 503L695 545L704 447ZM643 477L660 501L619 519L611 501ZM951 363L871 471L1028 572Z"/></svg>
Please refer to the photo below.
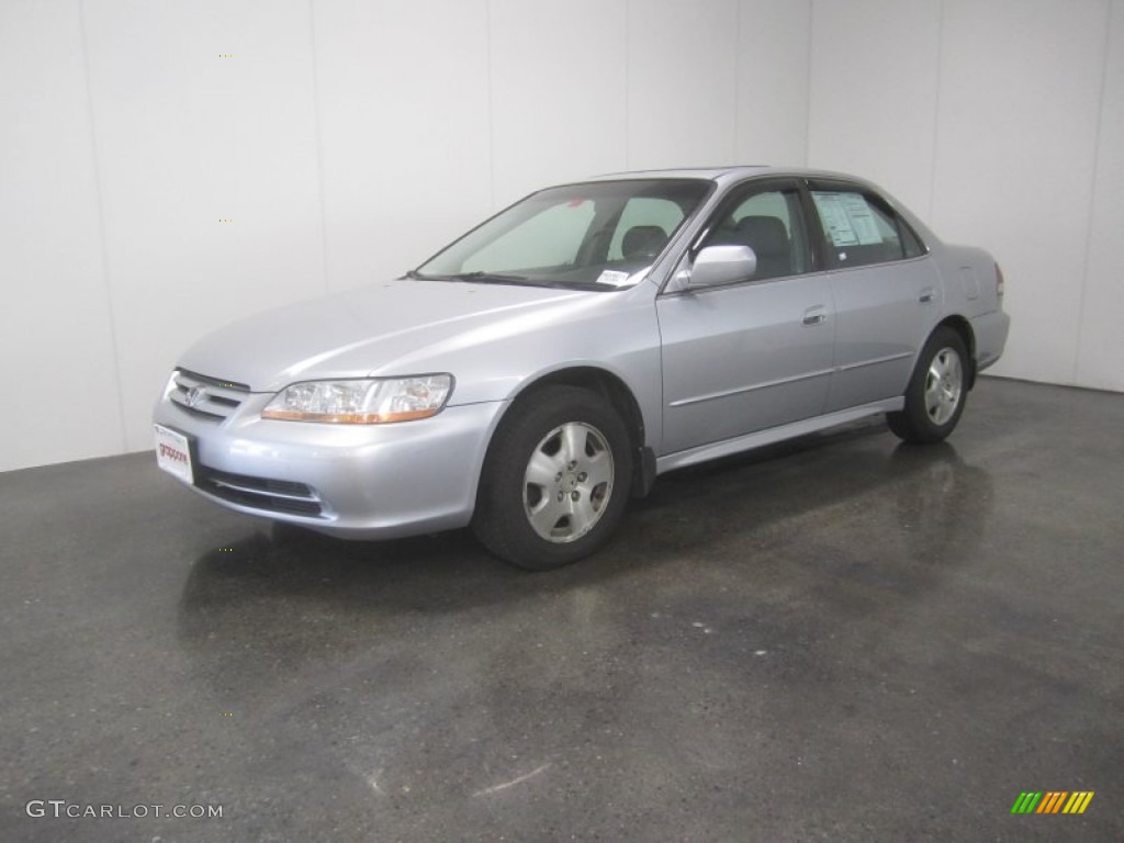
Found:
<svg viewBox="0 0 1124 843"><path fill-rule="evenodd" d="M0 3L0 471L124 445L79 12Z"/></svg>

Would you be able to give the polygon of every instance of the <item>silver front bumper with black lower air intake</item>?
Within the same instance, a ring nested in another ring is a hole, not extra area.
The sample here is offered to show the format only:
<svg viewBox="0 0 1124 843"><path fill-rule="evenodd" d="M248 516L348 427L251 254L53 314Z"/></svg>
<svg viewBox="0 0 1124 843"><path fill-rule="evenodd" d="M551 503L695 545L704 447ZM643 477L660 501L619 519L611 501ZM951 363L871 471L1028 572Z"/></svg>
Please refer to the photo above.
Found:
<svg viewBox="0 0 1124 843"><path fill-rule="evenodd" d="M229 417L164 397L153 420L192 443L196 492L229 509L345 538L463 527L502 402L388 425L262 419L253 393Z"/></svg>

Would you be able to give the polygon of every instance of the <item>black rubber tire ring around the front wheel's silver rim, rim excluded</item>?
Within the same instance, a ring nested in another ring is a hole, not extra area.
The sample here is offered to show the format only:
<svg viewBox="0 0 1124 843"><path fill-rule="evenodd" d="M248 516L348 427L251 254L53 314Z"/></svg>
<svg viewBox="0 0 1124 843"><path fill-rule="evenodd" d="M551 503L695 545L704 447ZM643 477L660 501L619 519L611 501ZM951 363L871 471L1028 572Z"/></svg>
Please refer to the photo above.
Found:
<svg viewBox="0 0 1124 843"><path fill-rule="evenodd" d="M524 511L524 475L534 450L556 427L584 423L601 434L613 455L613 490L593 527L572 542L540 536ZM629 495L633 455L628 432L602 398L579 387L552 386L520 397L492 436L472 526L497 556L528 570L549 570L593 553L609 538Z"/></svg>

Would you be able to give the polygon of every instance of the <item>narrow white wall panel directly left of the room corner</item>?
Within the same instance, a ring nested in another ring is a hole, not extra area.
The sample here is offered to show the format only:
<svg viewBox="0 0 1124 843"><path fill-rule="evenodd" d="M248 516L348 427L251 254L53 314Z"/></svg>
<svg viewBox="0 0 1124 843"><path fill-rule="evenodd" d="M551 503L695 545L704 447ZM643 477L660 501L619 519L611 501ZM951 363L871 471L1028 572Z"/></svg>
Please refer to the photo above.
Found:
<svg viewBox="0 0 1124 843"><path fill-rule="evenodd" d="M806 163L810 26L810 0L741 0L735 54L736 163Z"/></svg>

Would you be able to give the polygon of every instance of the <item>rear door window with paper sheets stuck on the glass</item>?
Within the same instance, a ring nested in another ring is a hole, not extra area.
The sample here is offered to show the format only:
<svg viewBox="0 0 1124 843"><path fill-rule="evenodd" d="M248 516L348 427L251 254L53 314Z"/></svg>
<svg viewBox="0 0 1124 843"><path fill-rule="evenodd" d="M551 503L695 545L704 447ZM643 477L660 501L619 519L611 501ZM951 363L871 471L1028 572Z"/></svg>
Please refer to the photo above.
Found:
<svg viewBox="0 0 1124 843"><path fill-rule="evenodd" d="M925 253L917 235L881 200L858 190L813 190L835 268L901 261Z"/></svg>

